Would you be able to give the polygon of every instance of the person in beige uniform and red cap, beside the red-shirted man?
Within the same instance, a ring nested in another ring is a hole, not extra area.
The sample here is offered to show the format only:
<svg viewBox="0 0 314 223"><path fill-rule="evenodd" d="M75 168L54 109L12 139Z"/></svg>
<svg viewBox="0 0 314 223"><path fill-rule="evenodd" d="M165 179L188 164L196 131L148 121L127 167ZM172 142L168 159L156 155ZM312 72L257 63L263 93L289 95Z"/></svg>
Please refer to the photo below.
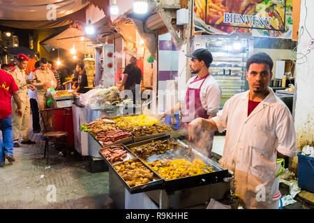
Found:
<svg viewBox="0 0 314 223"><path fill-rule="evenodd" d="M27 95L27 89L31 91L36 88L31 85L32 81L27 79L25 75L25 70L27 68L27 63L29 58L24 54L17 55L17 66L12 68L10 72L12 73L17 86L19 87L19 91L17 93L20 96L22 102L22 113L23 116L17 116L15 110L17 109L17 104L12 102L13 109L13 137L14 137L14 147L20 147L19 139L20 134L22 134L22 144L35 144L35 141L29 139L29 114L30 114L30 105L29 105L29 96Z"/></svg>

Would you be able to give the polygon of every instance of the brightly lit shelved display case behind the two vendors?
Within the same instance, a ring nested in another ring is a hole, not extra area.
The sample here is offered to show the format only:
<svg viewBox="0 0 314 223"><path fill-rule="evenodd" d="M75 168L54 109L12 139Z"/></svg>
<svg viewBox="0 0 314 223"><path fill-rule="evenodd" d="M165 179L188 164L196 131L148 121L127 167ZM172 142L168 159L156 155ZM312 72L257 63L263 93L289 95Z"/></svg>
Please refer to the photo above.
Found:
<svg viewBox="0 0 314 223"><path fill-rule="evenodd" d="M209 71L220 85L223 94L220 109L233 95L248 89L246 61L253 52L251 35L197 35L191 38L190 47L191 52L207 48L213 55Z"/></svg>

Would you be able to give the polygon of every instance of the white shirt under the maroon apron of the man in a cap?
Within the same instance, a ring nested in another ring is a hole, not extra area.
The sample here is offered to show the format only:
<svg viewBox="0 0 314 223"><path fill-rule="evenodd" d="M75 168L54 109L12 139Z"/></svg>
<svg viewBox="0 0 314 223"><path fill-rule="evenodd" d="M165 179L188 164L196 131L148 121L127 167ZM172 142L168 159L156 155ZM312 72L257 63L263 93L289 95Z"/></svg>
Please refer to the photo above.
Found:
<svg viewBox="0 0 314 223"><path fill-rule="evenodd" d="M204 79L200 79L197 82L193 82L194 80L195 80L195 76L191 77L188 80L184 95L182 95L181 97L181 102L184 101L186 98L187 89L188 88L199 89ZM193 83L190 84L190 82L193 82ZM207 111L207 114L209 116L216 116L216 114L218 113L218 108L220 105L220 98L221 98L220 86L218 82L216 82L216 79L213 76L209 75L204 80L204 84L202 85L202 88L200 89L200 100L202 102L202 107Z"/></svg>

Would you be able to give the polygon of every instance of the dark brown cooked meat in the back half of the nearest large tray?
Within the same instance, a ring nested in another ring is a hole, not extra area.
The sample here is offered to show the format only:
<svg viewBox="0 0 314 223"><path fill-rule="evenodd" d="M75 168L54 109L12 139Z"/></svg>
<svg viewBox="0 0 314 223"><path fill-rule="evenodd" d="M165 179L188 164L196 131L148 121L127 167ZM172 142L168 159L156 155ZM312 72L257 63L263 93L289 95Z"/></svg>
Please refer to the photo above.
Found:
<svg viewBox="0 0 314 223"><path fill-rule="evenodd" d="M169 151L173 148L182 147L181 144L177 141L173 141L171 139L165 140L157 140L152 141L150 144L144 144L142 146L137 146L131 148L133 153L138 155L139 157L146 159L147 157L155 154L164 153L165 151Z"/></svg>

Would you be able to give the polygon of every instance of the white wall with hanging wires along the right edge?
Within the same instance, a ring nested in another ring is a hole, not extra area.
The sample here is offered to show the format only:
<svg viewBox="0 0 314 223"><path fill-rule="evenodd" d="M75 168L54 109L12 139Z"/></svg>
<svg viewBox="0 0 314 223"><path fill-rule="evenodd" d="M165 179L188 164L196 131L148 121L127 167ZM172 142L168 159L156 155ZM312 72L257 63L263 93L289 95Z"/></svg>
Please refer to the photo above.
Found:
<svg viewBox="0 0 314 223"><path fill-rule="evenodd" d="M308 8L306 17L306 8ZM306 25L308 32L311 33L314 38L314 1L302 0L301 1L301 15L300 15L300 29L299 35L302 33L301 29ZM306 24L304 19L306 17ZM314 141L314 129L313 129L313 117L314 117L314 50L307 54L303 59L300 59L302 55L307 53L309 49L308 43L311 37L306 30L299 36L298 45L298 60L296 65L296 83L297 83L297 100L294 115L294 126L297 132L297 147L301 150L301 147L306 144L312 144Z"/></svg>

